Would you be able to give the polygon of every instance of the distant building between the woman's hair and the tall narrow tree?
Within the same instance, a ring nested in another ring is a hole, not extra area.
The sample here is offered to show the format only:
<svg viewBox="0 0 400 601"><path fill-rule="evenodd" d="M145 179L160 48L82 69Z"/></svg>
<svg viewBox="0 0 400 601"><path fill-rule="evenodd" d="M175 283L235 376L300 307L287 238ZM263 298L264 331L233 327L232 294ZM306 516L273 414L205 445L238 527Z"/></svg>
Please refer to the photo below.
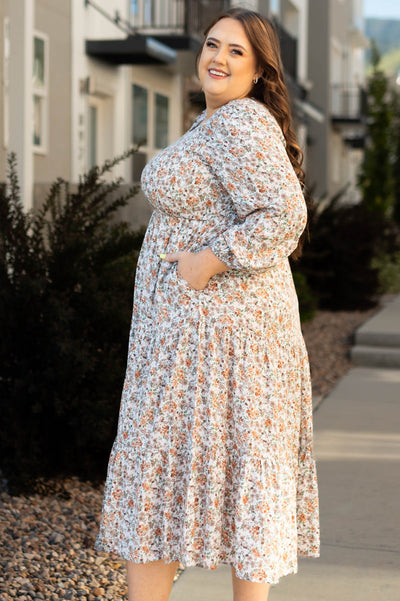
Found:
<svg viewBox="0 0 400 601"><path fill-rule="evenodd" d="M362 0L309 0L311 102L326 119L310 123L308 183L320 201L357 202L366 118Z"/></svg>

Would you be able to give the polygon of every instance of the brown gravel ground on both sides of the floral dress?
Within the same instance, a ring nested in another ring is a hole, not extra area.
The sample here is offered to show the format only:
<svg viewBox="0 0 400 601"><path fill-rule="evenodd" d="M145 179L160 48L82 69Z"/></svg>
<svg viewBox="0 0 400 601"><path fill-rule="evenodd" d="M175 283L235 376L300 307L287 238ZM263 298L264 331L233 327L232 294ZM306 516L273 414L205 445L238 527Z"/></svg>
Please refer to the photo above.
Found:
<svg viewBox="0 0 400 601"><path fill-rule="evenodd" d="M303 324L315 395L349 369L354 330L375 311L319 311ZM0 601L126 600L125 562L93 550L104 485L71 478L40 488L12 497L0 486Z"/></svg>

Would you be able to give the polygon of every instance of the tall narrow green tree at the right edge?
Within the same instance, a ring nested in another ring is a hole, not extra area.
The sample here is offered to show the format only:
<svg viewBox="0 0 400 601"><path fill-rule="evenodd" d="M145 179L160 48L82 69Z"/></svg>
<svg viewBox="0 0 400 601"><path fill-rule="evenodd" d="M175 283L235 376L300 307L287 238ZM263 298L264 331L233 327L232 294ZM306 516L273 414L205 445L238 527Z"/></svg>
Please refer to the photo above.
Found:
<svg viewBox="0 0 400 601"><path fill-rule="evenodd" d="M394 201L391 158L393 111L388 99L388 81L379 69L379 62L380 54L373 42L373 72L367 88L367 145L358 183L366 209L387 215Z"/></svg>

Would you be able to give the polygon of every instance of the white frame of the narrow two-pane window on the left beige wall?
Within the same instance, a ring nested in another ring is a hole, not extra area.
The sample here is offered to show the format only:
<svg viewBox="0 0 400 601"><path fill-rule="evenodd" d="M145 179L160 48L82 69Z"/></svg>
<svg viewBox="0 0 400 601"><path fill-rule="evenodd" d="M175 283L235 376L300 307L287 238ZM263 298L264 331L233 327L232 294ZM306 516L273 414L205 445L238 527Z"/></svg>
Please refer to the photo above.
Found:
<svg viewBox="0 0 400 601"><path fill-rule="evenodd" d="M32 64L32 148L35 154L48 154L49 144L49 36L41 31L34 30L32 36L32 44L35 44L35 38L44 42L44 85L43 88L35 87L33 75L34 75L34 62ZM33 61L35 58L35 52L33 48ZM34 107L35 97L40 98L40 115L41 115L41 144L35 144L34 142Z"/></svg>

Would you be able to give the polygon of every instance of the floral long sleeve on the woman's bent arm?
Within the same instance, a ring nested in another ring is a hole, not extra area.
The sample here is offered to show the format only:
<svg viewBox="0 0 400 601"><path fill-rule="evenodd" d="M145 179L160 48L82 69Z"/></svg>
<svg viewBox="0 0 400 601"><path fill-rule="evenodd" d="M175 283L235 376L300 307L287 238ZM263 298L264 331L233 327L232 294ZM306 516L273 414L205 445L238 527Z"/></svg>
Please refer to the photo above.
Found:
<svg viewBox="0 0 400 601"><path fill-rule="evenodd" d="M214 116L209 131L218 144L206 160L240 221L209 246L233 269L265 270L298 244L307 221L301 186L267 108L246 98L231 101Z"/></svg>

